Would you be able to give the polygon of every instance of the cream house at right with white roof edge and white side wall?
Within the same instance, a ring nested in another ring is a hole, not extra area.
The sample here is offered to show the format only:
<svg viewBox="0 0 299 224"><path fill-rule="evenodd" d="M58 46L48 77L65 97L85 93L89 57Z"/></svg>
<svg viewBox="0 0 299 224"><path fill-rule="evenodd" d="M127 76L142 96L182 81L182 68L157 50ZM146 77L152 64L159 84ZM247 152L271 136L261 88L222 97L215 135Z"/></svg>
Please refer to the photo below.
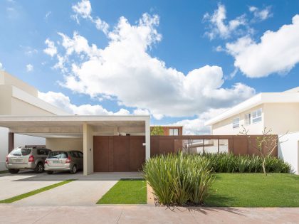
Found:
<svg viewBox="0 0 299 224"><path fill-rule="evenodd" d="M299 87L285 92L261 92L230 110L209 119L212 135L239 134L243 127L248 134L286 134L278 145L278 156L299 171ZM286 142L285 142L286 140Z"/></svg>

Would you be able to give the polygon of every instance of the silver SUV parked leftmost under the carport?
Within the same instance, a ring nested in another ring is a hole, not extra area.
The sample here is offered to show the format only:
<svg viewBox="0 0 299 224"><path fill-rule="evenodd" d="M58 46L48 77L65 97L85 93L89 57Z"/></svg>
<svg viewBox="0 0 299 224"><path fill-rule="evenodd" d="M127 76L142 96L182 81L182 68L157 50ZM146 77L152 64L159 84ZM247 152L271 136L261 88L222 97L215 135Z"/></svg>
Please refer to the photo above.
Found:
<svg viewBox="0 0 299 224"><path fill-rule="evenodd" d="M20 169L33 169L36 173L42 173L50 151L44 148L19 147L6 156L5 166L11 174L17 174Z"/></svg>

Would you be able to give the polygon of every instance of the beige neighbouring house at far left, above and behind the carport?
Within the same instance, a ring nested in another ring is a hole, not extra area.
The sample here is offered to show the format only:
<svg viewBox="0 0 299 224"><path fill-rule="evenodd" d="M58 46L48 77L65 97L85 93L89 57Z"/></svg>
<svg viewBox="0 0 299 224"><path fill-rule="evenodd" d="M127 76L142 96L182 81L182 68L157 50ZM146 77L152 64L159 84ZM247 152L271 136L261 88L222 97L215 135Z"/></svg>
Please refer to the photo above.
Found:
<svg viewBox="0 0 299 224"><path fill-rule="evenodd" d="M68 114L38 98L38 90L0 71L0 115L39 116ZM0 170L5 169L5 158L9 150L9 129L0 127ZM46 140L23 134L14 134L15 146L45 145ZM11 142L12 144L12 142Z"/></svg>

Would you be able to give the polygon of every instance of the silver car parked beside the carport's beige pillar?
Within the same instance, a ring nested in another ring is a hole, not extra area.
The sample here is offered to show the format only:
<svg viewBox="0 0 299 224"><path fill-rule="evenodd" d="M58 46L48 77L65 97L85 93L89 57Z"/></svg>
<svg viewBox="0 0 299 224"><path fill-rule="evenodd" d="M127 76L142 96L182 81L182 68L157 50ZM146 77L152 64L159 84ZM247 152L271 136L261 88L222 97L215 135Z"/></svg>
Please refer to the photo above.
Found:
<svg viewBox="0 0 299 224"><path fill-rule="evenodd" d="M83 153L81 151L51 151L45 161L45 171L70 171L70 174L83 170Z"/></svg>

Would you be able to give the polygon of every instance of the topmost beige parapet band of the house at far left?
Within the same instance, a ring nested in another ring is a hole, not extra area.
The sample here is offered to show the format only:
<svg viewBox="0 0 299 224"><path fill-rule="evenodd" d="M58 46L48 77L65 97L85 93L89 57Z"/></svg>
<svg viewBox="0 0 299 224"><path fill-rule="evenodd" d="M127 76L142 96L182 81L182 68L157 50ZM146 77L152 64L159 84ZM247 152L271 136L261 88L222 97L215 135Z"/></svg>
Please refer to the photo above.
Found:
<svg viewBox="0 0 299 224"><path fill-rule="evenodd" d="M4 71L0 71L0 85L14 85L19 89L38 97L38 90L35 87L28 85L26 82L19 80L18 78L6 73Z"/></svg>

